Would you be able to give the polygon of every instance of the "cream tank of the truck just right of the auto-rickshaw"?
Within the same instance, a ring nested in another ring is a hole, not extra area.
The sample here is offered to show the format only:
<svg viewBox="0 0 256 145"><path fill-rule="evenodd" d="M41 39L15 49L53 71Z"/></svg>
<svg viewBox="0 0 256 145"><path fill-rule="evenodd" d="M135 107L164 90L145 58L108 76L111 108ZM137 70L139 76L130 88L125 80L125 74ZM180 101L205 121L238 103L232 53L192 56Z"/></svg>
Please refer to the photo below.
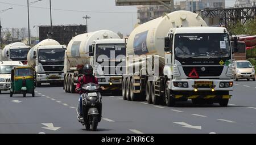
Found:
<svg viewBox="0 0 256 145"><path fill-rule="evenodd" d="M60 45L60 43L53 39L46 39L36 44L33 48L30 49L30 51L27 54L28 65L35 67L36 59L33 58L34 51L36 51L36 49L38 49L40 46L49 46L49 45Z"/></svg>

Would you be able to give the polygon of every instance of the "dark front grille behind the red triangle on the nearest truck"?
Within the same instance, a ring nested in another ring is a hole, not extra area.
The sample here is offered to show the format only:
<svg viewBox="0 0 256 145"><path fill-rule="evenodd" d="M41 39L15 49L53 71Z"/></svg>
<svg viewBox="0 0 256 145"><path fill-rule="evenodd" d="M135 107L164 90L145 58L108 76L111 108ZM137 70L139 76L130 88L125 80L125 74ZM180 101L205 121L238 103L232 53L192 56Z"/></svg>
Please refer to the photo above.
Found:
<svg viewBox="0 0 256 145"><path fill-rule="evenodd" d="M193 70L193 68L196 69L196 72L199 76L220 76L223 70L223 66L208 66L205 67L205 71L202 71L201 68L204 66L197 66L197 67L192 67L192 66L184 66L183 70L185 72L185 75L189 75L190 72Z"/></svg>

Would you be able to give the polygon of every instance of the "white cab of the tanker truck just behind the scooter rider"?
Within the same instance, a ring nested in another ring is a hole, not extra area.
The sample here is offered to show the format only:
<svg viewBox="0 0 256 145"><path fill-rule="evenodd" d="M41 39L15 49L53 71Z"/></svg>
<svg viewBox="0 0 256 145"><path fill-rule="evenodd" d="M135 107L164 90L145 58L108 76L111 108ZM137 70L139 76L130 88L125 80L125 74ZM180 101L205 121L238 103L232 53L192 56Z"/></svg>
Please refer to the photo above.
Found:
<svg viewBox="0 0 256 145"><path fill-rule="evenodd" d="M89 56L98 83L107 91L121 89L122 74L126 73L125 40L96 40L89 46Z"/></svg>

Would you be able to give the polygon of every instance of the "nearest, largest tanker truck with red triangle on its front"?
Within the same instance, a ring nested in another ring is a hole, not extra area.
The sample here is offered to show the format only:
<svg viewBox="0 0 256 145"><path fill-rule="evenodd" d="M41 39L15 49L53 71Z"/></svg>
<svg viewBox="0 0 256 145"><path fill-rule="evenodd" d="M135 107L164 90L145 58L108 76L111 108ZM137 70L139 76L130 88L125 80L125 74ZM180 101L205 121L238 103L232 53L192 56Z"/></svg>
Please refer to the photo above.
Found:
<svg viewBox="0 0 256 145"><path fill-rule="evenodd" d="M225 28L207 27L198 14L175 11L135 28L126 52L123 100L228 105L232 50Z"/></svg>

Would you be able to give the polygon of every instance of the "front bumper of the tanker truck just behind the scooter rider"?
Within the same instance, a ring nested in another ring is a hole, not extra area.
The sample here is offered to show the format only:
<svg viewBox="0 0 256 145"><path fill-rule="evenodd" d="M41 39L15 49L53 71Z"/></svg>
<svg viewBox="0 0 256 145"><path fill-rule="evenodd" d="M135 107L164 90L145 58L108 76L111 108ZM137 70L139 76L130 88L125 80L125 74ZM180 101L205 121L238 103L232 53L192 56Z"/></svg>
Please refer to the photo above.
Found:
<svg viewBox="0 0 256 145"><path fill-rule="evenodd" d="M98 84L105 87L106 91L122 89L122 76L97 76L97 79Z"/></svg>

